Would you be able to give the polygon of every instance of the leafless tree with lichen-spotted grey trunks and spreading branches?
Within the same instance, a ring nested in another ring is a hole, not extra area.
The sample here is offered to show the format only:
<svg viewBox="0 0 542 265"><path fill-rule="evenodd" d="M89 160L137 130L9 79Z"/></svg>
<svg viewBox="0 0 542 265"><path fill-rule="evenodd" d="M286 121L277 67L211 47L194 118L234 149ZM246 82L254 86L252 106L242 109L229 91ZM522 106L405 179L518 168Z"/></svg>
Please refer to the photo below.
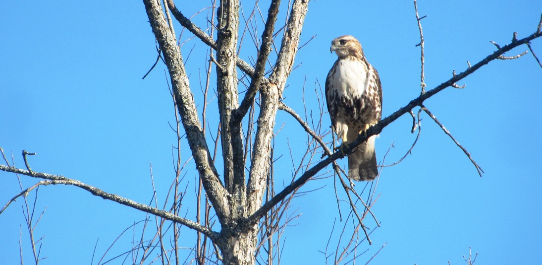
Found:
<svg viewBox="0 0 542 265"><path fill-rule="evenodd" d="M36 185L25 190L21 187L21 193L16 194L12 200L8 201L2 211L16 198L28 194L38 186L74 185L95 196L115 201L153 216L156 220L156 232L152 236L152 240L141 239L139 244L131 249L131 253L137 253L134 257L139 257L137 261L133 258L133 263L143 263L155 248L158 248L162 253L161 257L164 263L183 263L178 254L180 249L178 243L180 240L179 230L185 226L196 231L197 242L191 247L193 260L184 261L184 263L195 261L198 264L255 264L261 259L263 263L272 264L280 263L279 238L285 225L295 216L295 212L289 211L288 207L293 196L311 178L335 175L337 176L335 178L336 187L339 190L344 190L344 195L341 196L344 196L346 198L344 200L348 201L350 205L345 218L353 220L355 225L351 235L344 234L345 229L343 228L343 232L340 232L341 240L339 240L337 248L332 250L330 247L329 253L326 248L322 253L325 254L326 261L328 257L333 256L335 264L355 260L356 257L363 254L356 251L357 246L365 240L371 244L370 232L367 231L363 223L365 217L369 216L370 219L375 220L376 225L379 225L376 216L371 211L371 206L377 199L375 188L378 181L375 181L374 185L366 186L367 189L363 189L366 195L362 198L359 188L354 189L353 185L345 180L344 171L335 163L345 154L334 152L334 149L330 148L334 143L331 131L329 128L322 128L325 109L319 84L315 85L315 91L317 94L320 93L322 100L318 105L319 113L316 118L309 118L306 114L303 118L281 100L283 91L286 89L286 81L295 67L296 53L302 47L300 34L309 1L294 0L288 3L287 20L284 24L278 22L280 1L271 1L267 16L261 15L258 3L254 4L252 14L244 16L240 12L241 3L238 0L220 1L211 7L212 12L208 17L210 26L207 30L202 30L192 23L190 18L184 16L173 0L164 0L163 2L144 0L143 2L158 43L157 62L162 59L167 66L177 118L177 124L172 126L177 133L176 175L163 205L161 207L158 205L156 197L153 197L149 205L145 205L66 176L33 171L28 161L28 156L33 153L27 151L22 153L25 169L11 166L12 163L10 164L6 159L2 150L5 161L5 165L0 165L2 171L42 179ZM433 89L426 90L423 68L424 39L420 22L423 17L418 15L416 1L414 3L420 28L421 42L419 46L422 52L422 90L420 96L367 129L365 134L360 134L353 141L351 147L366 141L372 135L379 134L386 126L407 113L410 113L413 118L412 132L418 129L419 136L420 113L423 111L440 125L443 131L473 162L479 174L482 174L482 169L470 157L467 150L457 143L423 103L447 87L461 88L456 84L458 81L492 60L515 58L515 56L506 57L504 53L514 47L528 45L530 41L542 36L540 30L542 20L531 35L518 39L517 34L514 33L512 41L502 47L494 43L496 51L485 59L473 65L469 63L465 71L461 73L454 71L449 80ZM190 31L201 41L201 45L209 47L208 58L204 58L208 60L208 65L206 77L204 77L205 85L201 92L204 98L203 104L197 104L193 97L196 89L189 83L185 70L186 56L183 57L180 53L180 37L177 37L173 29L173 18L182 25L181 32L185 29ZM250 28L249 25L253 22L258 23L259 19L262 20L264 29L261 36L257 37L257 31L254 27ZM256 50L253 60L249 62L238 55L238 49L240 49L247 31L253 38ZM272 53L273 51L275 54ZM211 77L213 69L216 71L216 79ZM215 80L220 121L217 124L209 124L206 121L206 108L210 102L208 97L211 96L209 86ZM305 85L303 87L305 88ZM419 108L417 115L414 113L416 108ZM273 143L279 110L291 115L307 134L305 156L300 161L295 161L292 158L295 171L285 187L275 184L274 175L274 162L278 154L274 153ZM216 132L215 137L207 135L209 130ZM184 136L191 151L189 161L182 161L180 156L180 146ZM351 150L347 150L348 152ZM217 155L217 153L221 154ZM217 159L222 160L223 168L216 167ZM195 164L198 175L197 214L193 219L181 216L179 211L183 196L186 194L183 192L182 186L183 172L185 172L186 165L191 165L189 163ZM332 165L332 170L325 172L324 169L328 165ZM339 204L339 201L343 199L339 199L339 195L337 196ZM171 201L168 201L169 198ZM154 206L151 206L152 204ZM147 217L144 222L145 227L149 218L152 217ZM340 218L343 218L342 213L340 213ZM30 233L33 231L32 220L32 218L28 218ZM173 240L175 245L166 249L163 235L170 228L175 236ZM32 240L34 246L34 239ZM343 245L343 248L339 248L339 245ZM34 253L37 263L39 251L36 254L36 250L34 250ZM173 257L170 260L171 255Z"/></svg>

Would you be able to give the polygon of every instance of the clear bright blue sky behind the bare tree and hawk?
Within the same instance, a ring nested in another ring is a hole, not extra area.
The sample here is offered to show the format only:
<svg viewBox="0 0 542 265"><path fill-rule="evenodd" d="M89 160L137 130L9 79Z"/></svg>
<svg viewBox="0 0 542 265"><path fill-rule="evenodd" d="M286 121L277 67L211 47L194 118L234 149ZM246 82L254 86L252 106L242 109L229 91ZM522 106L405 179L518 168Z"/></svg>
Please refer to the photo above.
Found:
<svg viewBox="0 0 542 265"><path fill-rule="evenodd" d="M203 1L177 1L190 16L209 5ZM542 2L419 1L425 36L425 70L428 88L463 71L467 61L478 62L495 47L534 32ZM243 7L246 14L252 4ZM266 4L261 4L267 14ZM287 10L283 3L282 12ZM196 16L205 28L207 10ZM261 35L259 28L258 36ZM179 34L181 28L177 27ZM314 83L323 83L336 59L329 46L334 37L351 34L380 74L383 115L388 116L420 93L420 42L412 1L313 1L301 42L313 35L296 58L285 103L299 113L306 79L306 105L318 110ZM7 1L0 11L0 146L13 152L24 167L21 150L36 152L30 158L35 171L62 174L98 186L140 203L152 196L150 166L163 201L174 176L171 146L176 135L163 64L141 77L156 59L154 36L141 1ZM188 31L183 40L190 37ZM251 40L247 39L246 47ZM192 89L202 104L199 74L204 73L204 49L197 39L182 47ZM532 43L542 56L542 40ZM247 48L248 49L248 48ZM525 51L514 49L507 55ZM243 50L244 51L244 50ZM249 60L248 53L241 54ZM254 54L251 54L254 56ZM459 148L427 116L422 135L402 163L384 168L373 211L382 226L373 232L373 245L358 258L364 264L385 243L373 264L462 264L469 246L478 252L476 264L533 264L542 260L542 69L531 54L511 61L493 61L461 81L463 90L447 89L426 102L457 140L485 170L482 178ZM213 86L211 86L212 88ZM199 100L199 101L198 101ZM216 104L216 100L211 105ZM209 110L216 118L215 107ZM214 112L213 112L214 111ZM324 118L325 127L329 125ZM285 127L275 142L283 154L276 174L291 178L287 143L304 149L306 136L283 113L276 130ZM404 116L386 128L377 140L377 157L395 162L410 147L411 118ZM214 128L214 127L213 127ZM214 130L214 129L213 129ZM183 150L183 159L190 152ZM288 158L286 158L288 157ZM299 161L300 155L294 154ZM341 161L344 165L345 161ZM186 176L187 197L193 194L195 174ZM24 187L37 180L22 177ZM190 180L190 181L188 181ZM333 220L338 218L333 179L311 181L301 191L324 188L294 200L301 213L284 238L283 264L323 264ZM358 185L362 187L362 185ZM0 172L0 205L19 192L14 174ZM33 198L33 196L31 196ZM186 211L193 206L186 199ZM0 216L2 264L19 263L19 228L24 224L17 200ZM47 207L35 231L42 240L44 264L90 263L105 253L113 240L145 214L93 197L71 186L47 186L39 192L37 209ZM193 216L193 215L192 215ZM374 222L366 219L373 228ZM342 227L343 223L338 223ZM185 229L183 235L192 233ZM31 255L23 227L25 262ZM123 237L112 257L131 248ZM186 243L192 247L192 243ZM334 246L333 246L334 248Z"/></svg>

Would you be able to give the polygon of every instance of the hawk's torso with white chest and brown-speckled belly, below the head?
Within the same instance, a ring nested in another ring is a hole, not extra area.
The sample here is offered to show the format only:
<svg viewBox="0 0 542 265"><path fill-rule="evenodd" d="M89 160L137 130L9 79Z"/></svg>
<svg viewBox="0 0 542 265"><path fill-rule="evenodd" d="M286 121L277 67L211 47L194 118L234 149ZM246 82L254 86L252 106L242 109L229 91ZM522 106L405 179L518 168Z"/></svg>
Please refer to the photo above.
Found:
<svg viewBox="0 0 542 265"><path fill-rule="evenodd" d="M335 130L343 125L362 130L375 124L382 113L382 88L378 73L367 61L335 61L326 79L327 108ZM340 135L340 134L339 134Z"/></svg>

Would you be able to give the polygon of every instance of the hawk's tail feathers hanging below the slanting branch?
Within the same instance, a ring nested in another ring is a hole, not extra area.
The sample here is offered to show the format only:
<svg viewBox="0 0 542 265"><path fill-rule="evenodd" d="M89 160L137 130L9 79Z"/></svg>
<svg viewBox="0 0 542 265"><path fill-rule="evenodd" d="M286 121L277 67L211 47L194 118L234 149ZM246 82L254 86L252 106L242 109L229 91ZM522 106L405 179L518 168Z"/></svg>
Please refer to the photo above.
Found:
<svg viewBox="0 0 542 265"><path fill-rule="evenodd" d="M359 144L354 153L348 155L348 178L357 181L369 181L378 175L376 162L375 137Z"/></svg>

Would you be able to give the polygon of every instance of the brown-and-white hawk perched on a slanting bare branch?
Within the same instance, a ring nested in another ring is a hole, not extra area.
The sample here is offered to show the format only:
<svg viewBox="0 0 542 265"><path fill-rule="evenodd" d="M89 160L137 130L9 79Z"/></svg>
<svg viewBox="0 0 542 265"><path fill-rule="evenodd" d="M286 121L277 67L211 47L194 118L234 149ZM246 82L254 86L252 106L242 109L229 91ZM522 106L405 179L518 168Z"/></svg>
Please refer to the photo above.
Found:
<svg viewBox="0 0 542 265"><path fill-rule="evenodd" d="M378 72L367 62L362 45L350 35L331 42L331 52L339 58L326 78L327 109L333 129L343 139L341 147L382 117L382 85ZM373 180L378 175L375 137L359 144L348 155L348 178Z"/></svg>

